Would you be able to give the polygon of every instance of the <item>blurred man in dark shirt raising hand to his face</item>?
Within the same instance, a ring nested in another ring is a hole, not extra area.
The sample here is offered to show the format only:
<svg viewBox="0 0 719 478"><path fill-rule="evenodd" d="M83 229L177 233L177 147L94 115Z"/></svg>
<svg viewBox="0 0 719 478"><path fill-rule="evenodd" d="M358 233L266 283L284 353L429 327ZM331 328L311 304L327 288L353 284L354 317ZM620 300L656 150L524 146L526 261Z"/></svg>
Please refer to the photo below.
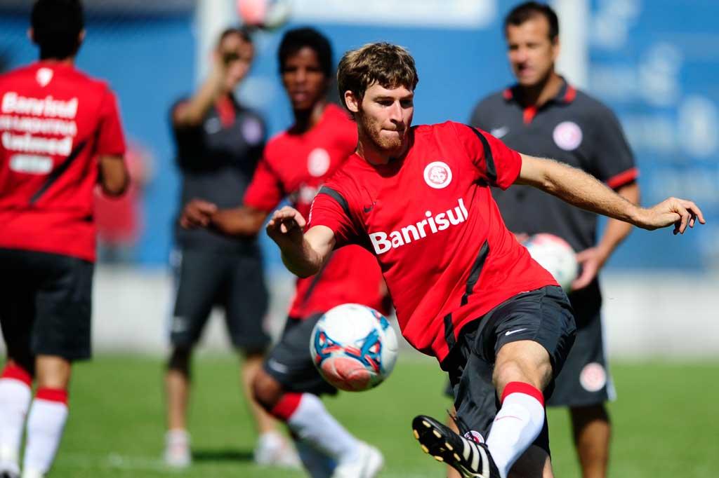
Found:
<svg viewBox="0 0 719 478"><path fill-rule="evenodd" d="M180 210L193 198L221 207L240 204L265 146L265 123L234 98L252 65L255 48L244 29L219 35L208 78L171 112L177 159L182 172ZM175 224L178 249L172 257L177 282L170 330L165 388L168 434L165 461L185 467L191 461L186 413L190 362L212 306L224 308L232 345L244 355L242 388L260 436L255 461L298 464L296 454L275 430L275 421L252 400L249 384L262 365L270 337L265 332L267 289L255 237L236 240L215 230L188 230Z"/></svg>

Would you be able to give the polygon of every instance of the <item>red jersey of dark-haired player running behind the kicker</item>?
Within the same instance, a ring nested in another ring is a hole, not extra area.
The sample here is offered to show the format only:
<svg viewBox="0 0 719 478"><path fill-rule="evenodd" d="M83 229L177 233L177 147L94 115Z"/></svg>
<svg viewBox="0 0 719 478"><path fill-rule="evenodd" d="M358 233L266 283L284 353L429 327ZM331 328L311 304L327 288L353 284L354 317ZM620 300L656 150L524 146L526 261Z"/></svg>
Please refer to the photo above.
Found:
<svg viewBox="0 0 719 478"><path fill-rule="evenodd" d="M283 131L265 146L265 156L252 177L244 204L270 212L285 197L307 217L319 187L347 160L357 146L357 126L338 106L329 104L322 118L303 134ZM383 306L380 268L366 250L338 250L316 275L301 278L290 317L304 319L339 304Z"/></svg>

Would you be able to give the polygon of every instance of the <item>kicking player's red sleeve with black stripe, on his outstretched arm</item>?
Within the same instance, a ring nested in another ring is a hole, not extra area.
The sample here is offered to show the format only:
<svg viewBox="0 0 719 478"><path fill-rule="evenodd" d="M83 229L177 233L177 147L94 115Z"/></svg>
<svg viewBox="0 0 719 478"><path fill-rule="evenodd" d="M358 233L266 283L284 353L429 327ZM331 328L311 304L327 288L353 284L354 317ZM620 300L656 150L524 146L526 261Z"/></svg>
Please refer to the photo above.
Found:
<svg viewBox="0 0 719 478"><path fill-rule="evenodd" d="M454 124L457 137L475 164L480 179L507 189L519 176L522 158L490 133L472 126Z"/></svg>

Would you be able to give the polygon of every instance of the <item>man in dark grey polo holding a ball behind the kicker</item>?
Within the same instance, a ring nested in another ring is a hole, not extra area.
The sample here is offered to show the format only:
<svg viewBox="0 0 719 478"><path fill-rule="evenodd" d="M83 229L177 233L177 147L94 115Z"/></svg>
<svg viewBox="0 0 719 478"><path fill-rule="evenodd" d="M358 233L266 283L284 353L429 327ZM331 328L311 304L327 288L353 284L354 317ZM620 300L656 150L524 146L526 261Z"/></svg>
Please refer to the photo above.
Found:
<svg viewBox="0 0 719 478"><path fill-rule="evenodd" d="M559 55L554 11L528 2L510 11L504 27L517 84L482 100L472 125L517 151L583 169L638 202L637 169L617 118L554 71ZM547 404L569 407L583 477L605 477L610 422L604 403L614 398L614 389L605 361L597 273L631 225L610 219L597 241L597 215L592 212L526 186L494 189L493 195L511 231L558 235L578 252L582 270L569 294L577 339Z"/></svg>

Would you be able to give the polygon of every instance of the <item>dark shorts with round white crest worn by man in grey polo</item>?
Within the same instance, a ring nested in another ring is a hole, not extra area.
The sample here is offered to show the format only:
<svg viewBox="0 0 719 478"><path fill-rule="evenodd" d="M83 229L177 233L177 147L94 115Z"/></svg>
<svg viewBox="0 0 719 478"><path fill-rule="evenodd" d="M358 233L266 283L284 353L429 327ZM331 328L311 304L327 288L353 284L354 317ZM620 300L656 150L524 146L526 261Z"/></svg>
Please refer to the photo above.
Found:
<svg viewBox="0 0 719 478"><path fill-rule="evenodd" d="M562 373L557 376L551 398L546 401L549 407L590 406L613 400L615 396L605 355L599 306L593 303L594 296L588 300L583 296L582 291L572 294L577 337L564 361ZM449 380L444 393L454 398Z"/></svg>

